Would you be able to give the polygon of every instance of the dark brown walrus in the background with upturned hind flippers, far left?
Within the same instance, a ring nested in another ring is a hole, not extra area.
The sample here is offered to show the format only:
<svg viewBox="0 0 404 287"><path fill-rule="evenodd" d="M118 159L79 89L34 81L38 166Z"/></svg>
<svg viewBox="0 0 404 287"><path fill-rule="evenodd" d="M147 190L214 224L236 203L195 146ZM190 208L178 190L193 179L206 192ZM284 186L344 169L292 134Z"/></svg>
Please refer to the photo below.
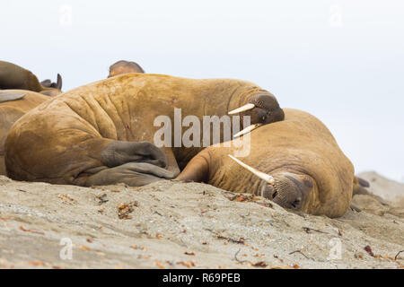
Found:
<svg viewBox="0 0 404 287"><path fill-rule="evenodd" d="M62 77L57 74L57 83L44 87L31 71L13 63L0 61L0 90L13 89L37 91L53 97L62 92Z"/></svg>

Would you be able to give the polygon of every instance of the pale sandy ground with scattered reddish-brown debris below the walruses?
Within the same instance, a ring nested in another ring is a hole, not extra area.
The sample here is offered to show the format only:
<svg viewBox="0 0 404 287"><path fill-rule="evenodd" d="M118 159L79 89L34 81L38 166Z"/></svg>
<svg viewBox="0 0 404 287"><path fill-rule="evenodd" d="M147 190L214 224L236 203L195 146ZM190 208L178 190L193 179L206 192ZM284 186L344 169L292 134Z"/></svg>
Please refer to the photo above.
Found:
<svg viewBox="0 0 404 287"><path fill-rule="evenodd" d="M0 176L0 267L403 268L404 205L372 176L375 196L355 196L362 211L338 219L198 183L86 188Z"/></svg>

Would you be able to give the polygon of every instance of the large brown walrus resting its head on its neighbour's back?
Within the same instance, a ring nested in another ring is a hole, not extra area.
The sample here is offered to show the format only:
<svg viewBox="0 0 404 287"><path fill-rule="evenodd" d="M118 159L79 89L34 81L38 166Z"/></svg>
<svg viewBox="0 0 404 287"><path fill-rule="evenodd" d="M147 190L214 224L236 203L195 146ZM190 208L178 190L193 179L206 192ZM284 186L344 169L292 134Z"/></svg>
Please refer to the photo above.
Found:
<svg viewBox="0 0 404 287"><path fill-rule="evenodd" d="M7 173L17 180L87 187L174 178L177 162L185 166L202 148L155 147L154 133L161 128L154 126L155 117L166 115L174 123L174 107L184 116L222 116L257 97L259 103L275 99L239 80L136 73L91 83L40 105L13 126L5 143ZM275 102L269 121L284 117Z"/></svg>

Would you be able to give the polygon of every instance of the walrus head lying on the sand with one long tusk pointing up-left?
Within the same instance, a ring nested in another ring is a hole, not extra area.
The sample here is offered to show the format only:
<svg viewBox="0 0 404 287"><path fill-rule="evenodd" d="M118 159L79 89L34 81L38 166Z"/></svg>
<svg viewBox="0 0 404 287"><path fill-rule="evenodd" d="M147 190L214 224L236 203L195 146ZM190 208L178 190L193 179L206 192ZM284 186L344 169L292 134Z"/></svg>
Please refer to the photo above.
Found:
<svg viewBox="0 0 404 287"><path fill-rule="evenodd" d="M291 172L278 172L274 175L268 175L250 167L230 154L229 157L244 169L250 170L258 178L264 180L265 184L260 186L260 190L256 194L266 197L284 208L304 211L304 207L314 192L312 178Z"/></svg>

